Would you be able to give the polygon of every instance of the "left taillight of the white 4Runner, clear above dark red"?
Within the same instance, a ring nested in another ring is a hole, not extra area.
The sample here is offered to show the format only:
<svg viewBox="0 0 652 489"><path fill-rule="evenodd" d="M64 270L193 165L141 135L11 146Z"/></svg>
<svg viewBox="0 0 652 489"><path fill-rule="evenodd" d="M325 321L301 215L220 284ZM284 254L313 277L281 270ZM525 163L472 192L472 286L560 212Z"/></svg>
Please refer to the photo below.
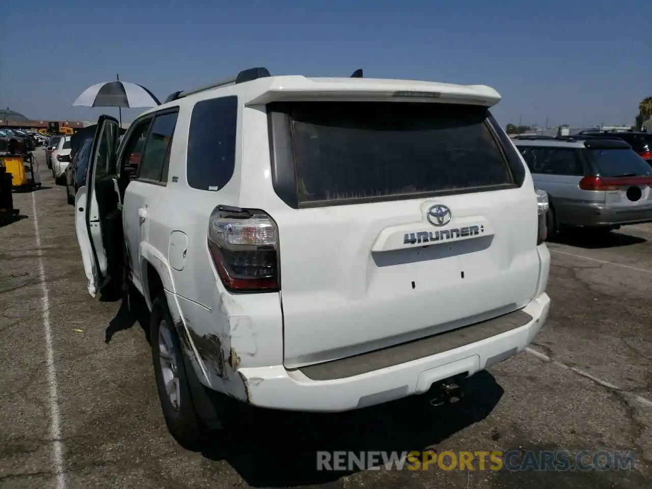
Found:
<svg viewBox="0 0 652 489"><path fill-rule="evenodd" d="M219 205L209 220L208 247L228 290L278 290L278 229L263 211Z"/></svg>

